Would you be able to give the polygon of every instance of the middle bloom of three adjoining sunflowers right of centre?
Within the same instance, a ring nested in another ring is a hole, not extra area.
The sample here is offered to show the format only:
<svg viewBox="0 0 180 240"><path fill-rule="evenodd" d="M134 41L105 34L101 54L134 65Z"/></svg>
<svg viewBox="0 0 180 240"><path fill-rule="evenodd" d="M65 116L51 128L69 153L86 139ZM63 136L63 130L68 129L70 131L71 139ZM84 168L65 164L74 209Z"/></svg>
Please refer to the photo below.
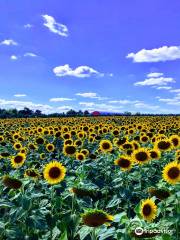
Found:
<svg viewBox="0 0 180 240"><path fill-rule="evenodd" d="M143 164L150 160L150 153L145 148L139 148L132 153L133 161Z"/></svg>

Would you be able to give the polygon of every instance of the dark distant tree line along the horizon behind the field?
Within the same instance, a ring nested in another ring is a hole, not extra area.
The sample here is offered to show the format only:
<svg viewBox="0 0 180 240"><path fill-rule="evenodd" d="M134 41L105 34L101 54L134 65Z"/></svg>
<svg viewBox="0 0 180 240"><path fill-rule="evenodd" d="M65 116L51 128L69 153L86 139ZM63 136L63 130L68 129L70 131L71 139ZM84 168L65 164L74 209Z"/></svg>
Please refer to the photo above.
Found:
<svg viewBox="0 0 180 240"><path fill-rule="evenodd" d="M51 113L51 114L44 114L40 110L31 110L25 107L23 110L17 109L0 109L0 118L35 118L35 117L82 117L82 116L92 116L93 114L89 113L89 111L75 111L70 109L66 113ZM131 112L124 112L124 113L109 113L109 112L100 112L101 116L179 116L180 114L143 114L137 112L132 114Z"/></svg>

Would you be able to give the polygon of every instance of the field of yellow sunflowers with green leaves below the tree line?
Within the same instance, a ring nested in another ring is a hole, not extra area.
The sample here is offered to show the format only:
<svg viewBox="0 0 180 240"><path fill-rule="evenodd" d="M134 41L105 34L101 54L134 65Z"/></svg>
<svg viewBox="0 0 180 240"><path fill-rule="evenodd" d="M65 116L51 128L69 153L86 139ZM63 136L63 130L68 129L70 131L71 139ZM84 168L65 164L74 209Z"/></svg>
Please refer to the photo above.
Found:
<svg viewBox="0 0 180 240"><path fill-rule="evenodd" d="M180 117L0 120L0 239L179 239Z"/></svg>

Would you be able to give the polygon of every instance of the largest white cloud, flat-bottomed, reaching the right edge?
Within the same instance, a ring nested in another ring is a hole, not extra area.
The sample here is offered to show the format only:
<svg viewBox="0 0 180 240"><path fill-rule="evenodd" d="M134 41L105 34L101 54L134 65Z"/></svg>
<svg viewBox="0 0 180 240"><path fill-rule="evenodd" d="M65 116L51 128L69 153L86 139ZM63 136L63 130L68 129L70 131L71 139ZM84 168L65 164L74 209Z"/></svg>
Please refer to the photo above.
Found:
<svg viewBox="0 0 180 240"><path fill-rule="evenodd" d="M180 46L163 46L151 50L142 49L137 53L129 53L126 58L133 62L164 62L180 59Z"/></svg>

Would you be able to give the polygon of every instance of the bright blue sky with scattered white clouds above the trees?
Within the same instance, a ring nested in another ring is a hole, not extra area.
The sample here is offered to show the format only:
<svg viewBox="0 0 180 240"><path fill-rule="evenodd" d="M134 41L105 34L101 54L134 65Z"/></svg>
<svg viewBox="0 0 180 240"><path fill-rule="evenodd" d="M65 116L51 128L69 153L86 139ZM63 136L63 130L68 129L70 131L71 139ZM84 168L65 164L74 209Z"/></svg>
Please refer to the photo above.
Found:
<svg viewBox="0 0 180 240"><path fill-rule="evenodd" d="M0 108L180 113L179 0L1 0Z"/></svg>

